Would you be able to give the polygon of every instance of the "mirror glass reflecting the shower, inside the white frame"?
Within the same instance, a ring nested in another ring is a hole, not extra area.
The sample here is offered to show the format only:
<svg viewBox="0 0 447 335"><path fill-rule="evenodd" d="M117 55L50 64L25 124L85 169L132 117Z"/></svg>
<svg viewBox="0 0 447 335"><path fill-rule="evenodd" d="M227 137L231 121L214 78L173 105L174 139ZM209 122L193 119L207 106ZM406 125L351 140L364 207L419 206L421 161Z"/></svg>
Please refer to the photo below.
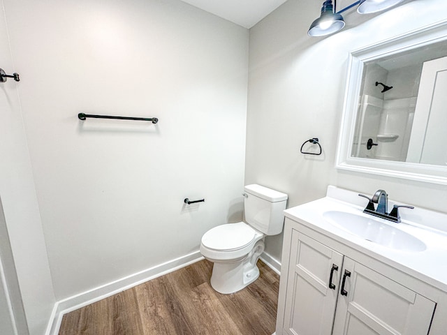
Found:
<svg viewBox="0 0 447 335"><path fill-rule="evenodd" d="M447 153L437 144L447 138L438 139L439 135L435 135L439 133L435 129L446 128L447 117L442 117L446 113L430 111L428 101L436 81L439 92L445 92L447 84L444 87L444 81L440 83L439 78L443 77L439 69L425 74L431 79L422 80L421 84L423 68L425 73L428 68L424 64L446 54L445 43L439 43L365 63L351 156L446 165ZM447 67L443 70L447 83ZM420 90L425 98L418 99ZM443 99L439 106L447 104L446 94L437 96ZM368 146L368 140L377 145Z"/></svg>

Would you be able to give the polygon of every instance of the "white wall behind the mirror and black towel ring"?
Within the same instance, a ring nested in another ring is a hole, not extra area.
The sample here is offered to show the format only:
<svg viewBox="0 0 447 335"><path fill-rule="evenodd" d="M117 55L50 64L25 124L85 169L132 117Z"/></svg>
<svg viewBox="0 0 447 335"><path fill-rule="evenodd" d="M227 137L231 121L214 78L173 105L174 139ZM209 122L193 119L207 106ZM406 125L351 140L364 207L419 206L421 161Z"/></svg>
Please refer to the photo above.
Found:
<svg viewBox="0 0 447 335"><path fill-rule="evenodd" d="M344 14L347 29L310 38L320 5L288 0L250 30L246 183L288 193L288 207L323 197L332 184L369 195L383 188L398 202L446 211L445 186L334 166L349 52L445 20L447 2L406 1L357 25L351 24L360 16L354 8ZM323 155L300 154L302 142L312 137L320 139ZM281 257L280 235L267 240L266 251Z"/></svg>

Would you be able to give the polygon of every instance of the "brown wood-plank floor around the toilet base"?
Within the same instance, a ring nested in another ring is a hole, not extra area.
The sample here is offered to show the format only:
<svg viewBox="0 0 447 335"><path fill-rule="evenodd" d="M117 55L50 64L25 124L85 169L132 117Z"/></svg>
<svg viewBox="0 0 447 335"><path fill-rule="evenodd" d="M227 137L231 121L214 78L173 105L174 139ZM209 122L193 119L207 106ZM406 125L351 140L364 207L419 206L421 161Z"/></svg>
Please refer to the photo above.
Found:
<svg viewBox="0 0 447 335"><path fill-rule="evenodd" d="M64 315L59 335L271 335L279 276L258 261L258 280L221 295L202 260Z"/></svg>

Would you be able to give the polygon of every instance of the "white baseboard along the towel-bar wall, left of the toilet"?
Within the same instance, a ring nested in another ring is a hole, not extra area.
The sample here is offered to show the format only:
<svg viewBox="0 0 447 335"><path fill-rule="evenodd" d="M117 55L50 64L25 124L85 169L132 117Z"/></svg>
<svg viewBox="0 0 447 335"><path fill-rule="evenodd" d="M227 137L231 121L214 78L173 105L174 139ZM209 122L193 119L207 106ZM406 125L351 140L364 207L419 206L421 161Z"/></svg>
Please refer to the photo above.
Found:
<svg viewBox="0 0 447 335"><path fill-rule="evenodd" d="M170 260L161 265L156 265L149 269L145 269L136 274L131 274L124 278L118 279L117 281L112 281L111 283L98 286L86 292L82 292L79 295L73 295L73 297L68 297L61 301L57 301L54 304L50 322L47 326L47 331L45 335L57 335L59 334L59 328L61 327L62 317L66 313L75 311L78 308L93 304L96 301L110 297L129 288L133 288L136 285L150 281L151 279L163 276L163 274L168 274L182 267L186 267L194 262L203 260L203 256L200 255L199 251L190 253L189 255L184 255L182 257L176 258L175 260Z"/></svg>

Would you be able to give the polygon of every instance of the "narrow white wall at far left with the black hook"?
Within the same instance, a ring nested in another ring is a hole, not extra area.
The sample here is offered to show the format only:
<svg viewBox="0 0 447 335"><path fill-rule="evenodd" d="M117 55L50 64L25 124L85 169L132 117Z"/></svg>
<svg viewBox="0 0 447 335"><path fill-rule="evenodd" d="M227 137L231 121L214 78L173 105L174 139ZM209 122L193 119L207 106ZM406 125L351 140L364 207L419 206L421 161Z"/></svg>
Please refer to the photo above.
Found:
<svg viewBox="0 0 447 335"><path fill-rule="evenodd" d="M8 74L20 72L10 55L3 1L0 48L0 67ZM55 300L17 91L20 84L12 79L0 83L0 258L17 331L41 335Z"/></svg>

